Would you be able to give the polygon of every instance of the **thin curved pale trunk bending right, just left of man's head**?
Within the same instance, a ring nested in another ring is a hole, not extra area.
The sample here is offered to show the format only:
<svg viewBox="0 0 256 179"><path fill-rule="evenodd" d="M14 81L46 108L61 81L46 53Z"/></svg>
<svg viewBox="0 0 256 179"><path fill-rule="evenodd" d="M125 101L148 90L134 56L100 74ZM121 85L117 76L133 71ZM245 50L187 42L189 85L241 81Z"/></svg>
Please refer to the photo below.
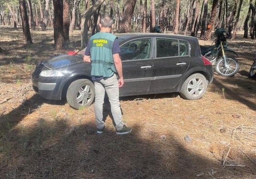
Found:
<svg viewBox="0 0 256 179"><path fill-rule="evenodd" d="M81 26L82 26L82 36L81 36L81 48L83 49L85 47L85 44L88 43L88 20L91 18L93 13L102 5L104 0L98 0L95 5L91 6L90 9L84 13Z"/></svg>

